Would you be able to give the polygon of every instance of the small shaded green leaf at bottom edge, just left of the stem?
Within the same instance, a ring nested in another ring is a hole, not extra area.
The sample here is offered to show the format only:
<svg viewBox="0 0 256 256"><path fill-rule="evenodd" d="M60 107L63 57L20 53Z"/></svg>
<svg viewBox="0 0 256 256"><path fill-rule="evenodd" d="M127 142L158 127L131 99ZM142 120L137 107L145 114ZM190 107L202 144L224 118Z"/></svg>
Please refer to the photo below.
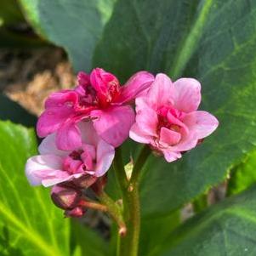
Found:
<svg viewBox="0 0 256 256"><path fill-rule="evenodd" d="M71 222L71 234L74 243L72 256L105 256L107 243L93 230L78 221Z"/></svg>

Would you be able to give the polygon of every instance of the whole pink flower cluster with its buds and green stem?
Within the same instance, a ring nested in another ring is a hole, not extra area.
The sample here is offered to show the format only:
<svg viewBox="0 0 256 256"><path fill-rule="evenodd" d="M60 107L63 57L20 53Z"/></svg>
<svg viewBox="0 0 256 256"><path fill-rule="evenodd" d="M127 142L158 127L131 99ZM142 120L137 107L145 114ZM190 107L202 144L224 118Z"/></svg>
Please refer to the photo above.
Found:
<svg viewBox="0 0 256 256"><path fill-rule="evenodd" d="M108 213L117 222L119 255L139 255L141 169L151 152L162 161L179 161L213 133L219 122L198 111L200 102L201 85L193 78L172 82L165 74L139 71L121 86L103 69L80 72L77 87L46 100L37 122L45 139L40 155L26 162L26 176L31 185L53 186L51 198L67 217L82 217L88 208ZM128 135L144 145L131 161L131 174L120 149ZM110 172L122 191L117 201L105 192Z"/></svg>

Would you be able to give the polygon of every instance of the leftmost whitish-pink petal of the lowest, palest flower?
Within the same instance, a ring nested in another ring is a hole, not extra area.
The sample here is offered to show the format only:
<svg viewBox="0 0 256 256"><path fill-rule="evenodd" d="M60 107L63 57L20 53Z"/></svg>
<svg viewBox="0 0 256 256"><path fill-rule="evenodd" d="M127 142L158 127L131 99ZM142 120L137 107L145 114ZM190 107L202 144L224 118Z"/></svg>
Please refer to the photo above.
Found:
<svg viewBox="0 0 256 256"><path fill-rule="evenodd" d="M45 176L61 170L62 158L54 155L32 156L26 162L26 177L31 185L41 185Z"/></svg>

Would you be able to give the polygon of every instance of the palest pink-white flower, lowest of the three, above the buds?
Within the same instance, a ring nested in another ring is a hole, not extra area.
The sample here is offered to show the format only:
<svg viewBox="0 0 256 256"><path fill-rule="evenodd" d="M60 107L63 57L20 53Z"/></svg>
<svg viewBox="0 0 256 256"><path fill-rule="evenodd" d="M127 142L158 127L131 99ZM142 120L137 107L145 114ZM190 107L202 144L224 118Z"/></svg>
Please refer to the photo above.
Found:
<svg viewBox="0 0 256 256"><path fill-rule="evenodd" d="M73 151L56 148L55 134L48 135L41 145L41 155L26 162L26 176L31 185L56 185L66 181L81 183L82 177L91 175L93 182L111 167L115 149L96 134L92 122L80 122L82 145ZM86 184L91 184L87 181Z"/></svg>

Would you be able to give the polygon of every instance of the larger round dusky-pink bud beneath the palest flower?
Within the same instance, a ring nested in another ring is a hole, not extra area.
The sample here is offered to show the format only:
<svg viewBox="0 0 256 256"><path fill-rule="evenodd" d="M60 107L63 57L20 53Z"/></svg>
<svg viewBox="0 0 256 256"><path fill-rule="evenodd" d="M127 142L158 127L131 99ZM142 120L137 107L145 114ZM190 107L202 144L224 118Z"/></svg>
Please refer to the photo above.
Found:
<svg viewBox="0 0 256 256"><path fill-rule="evenodd" d="M71 210L77 206L82 196L82 191L79 191L68 185L54 185L51 198L58 208Z"/></svg>

